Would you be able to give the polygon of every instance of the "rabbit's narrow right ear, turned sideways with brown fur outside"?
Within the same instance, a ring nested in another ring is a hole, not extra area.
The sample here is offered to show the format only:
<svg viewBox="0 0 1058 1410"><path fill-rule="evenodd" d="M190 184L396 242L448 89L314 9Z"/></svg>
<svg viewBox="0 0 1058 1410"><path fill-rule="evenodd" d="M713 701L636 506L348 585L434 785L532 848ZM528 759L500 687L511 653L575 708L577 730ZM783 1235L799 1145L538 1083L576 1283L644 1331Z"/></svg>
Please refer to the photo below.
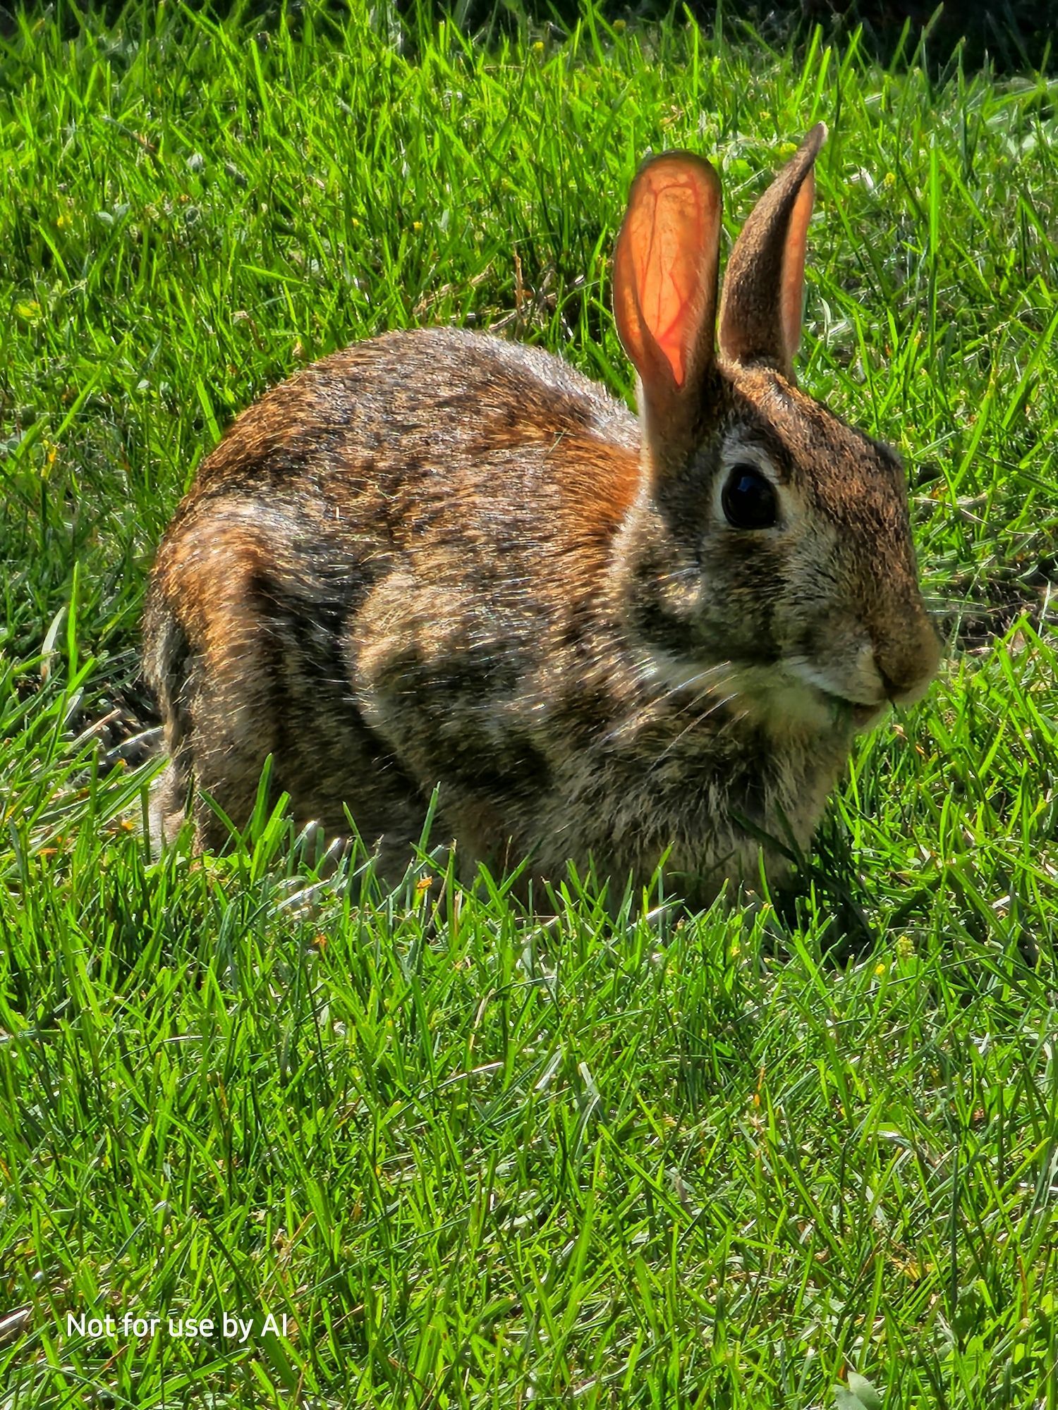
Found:
<svg viewBox="0 0 1058 1410"><path fill-rule="evenodd" d="M732 362L772 362L790 382L801 341L813 164L825 141L827 127L817 123L750 212L724 275L721 352Z"/></svg>

